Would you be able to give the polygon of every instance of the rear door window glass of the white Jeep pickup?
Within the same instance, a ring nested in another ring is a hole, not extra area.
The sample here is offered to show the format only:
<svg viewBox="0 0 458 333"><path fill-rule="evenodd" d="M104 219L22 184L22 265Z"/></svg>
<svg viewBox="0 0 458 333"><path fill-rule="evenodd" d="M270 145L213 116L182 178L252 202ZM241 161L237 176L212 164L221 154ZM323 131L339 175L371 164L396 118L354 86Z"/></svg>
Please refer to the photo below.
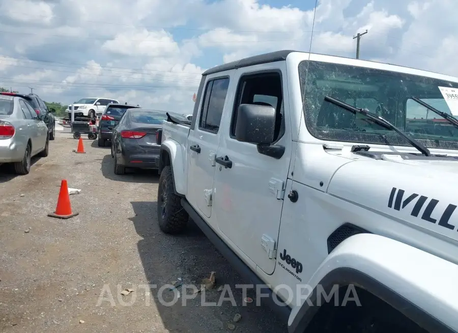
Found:
<svg viewBox="0 0 458 333"><path fill-rule="evenodd" d="M215 79L207 83L199 129L218 132L228 88L228 78Z"/></svg>

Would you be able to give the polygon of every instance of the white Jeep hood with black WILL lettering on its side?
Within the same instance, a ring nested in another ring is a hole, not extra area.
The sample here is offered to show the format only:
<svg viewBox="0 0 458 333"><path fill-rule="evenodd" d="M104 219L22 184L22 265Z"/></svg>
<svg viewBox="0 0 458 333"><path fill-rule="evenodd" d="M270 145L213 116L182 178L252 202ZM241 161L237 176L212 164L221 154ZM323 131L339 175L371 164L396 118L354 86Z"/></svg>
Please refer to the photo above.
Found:
<svg viewBox="0 0 458 333"><path fill-rule="evenodd" d="M343 164L327 193L415 228L458 240L458 159L353 160Z"/></svg>

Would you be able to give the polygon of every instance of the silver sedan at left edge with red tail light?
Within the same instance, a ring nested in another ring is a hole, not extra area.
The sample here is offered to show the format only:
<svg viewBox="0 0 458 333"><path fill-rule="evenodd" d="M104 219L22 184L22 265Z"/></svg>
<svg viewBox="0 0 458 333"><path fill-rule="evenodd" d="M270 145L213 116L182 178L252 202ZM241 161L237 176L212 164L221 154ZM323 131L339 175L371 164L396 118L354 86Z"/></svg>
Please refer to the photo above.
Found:
<svg viewBox="0 0 458 333"><path fill-rule="evenodd" d="M28 102L18 94L0 93L0 164L13 163L20 175L30 172L31 157L48 156L49 135Z"/></svg>

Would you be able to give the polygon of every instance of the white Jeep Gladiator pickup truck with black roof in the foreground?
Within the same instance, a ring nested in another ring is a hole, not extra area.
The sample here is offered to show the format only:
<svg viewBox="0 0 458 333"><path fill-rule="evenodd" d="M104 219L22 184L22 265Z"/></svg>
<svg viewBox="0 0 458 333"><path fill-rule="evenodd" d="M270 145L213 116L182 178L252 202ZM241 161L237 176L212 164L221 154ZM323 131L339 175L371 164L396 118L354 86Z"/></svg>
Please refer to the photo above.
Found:
<svg viewBox="0 0 458 333"><path fill-rule="evenodd" d="M209 69L192 121L163 125L159 226L190 217L291 333L456 332L456 90L289 50Z"/></svg>

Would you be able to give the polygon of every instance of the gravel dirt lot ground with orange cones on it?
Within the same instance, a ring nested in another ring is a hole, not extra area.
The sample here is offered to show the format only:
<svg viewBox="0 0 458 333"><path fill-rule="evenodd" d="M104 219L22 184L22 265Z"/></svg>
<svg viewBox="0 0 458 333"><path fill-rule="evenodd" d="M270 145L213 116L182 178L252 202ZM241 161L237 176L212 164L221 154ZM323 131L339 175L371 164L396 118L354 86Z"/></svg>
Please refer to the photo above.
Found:
<svg viewBox="0 0 458 333"><path fill-rule="evenodd" d="M84 140L87 153L75 154L76 145L69 133L58 133L29 175L0 173L1 332L231 331L227 323L237 313L236 332L287 331L270 309L254 302L242 307L240 289L232 289L237 307L202 306L201 296L186 306L183 297L174 306L161 304L158 296L169 301L174 291L159 288L179 278L199 285L216 271L217 286L244 281L192 223L183 236L160 232L157 174L116 176L108 147ZM47 216L62 179L82 190L70 197L79 215L67 220ZM151 297L141 287L148 284L157 285ZM104 286L113 304L97 306ZM124 288L135 291L122 296ZM218 301L220 294L208 291L206 299Z"/></svg>

